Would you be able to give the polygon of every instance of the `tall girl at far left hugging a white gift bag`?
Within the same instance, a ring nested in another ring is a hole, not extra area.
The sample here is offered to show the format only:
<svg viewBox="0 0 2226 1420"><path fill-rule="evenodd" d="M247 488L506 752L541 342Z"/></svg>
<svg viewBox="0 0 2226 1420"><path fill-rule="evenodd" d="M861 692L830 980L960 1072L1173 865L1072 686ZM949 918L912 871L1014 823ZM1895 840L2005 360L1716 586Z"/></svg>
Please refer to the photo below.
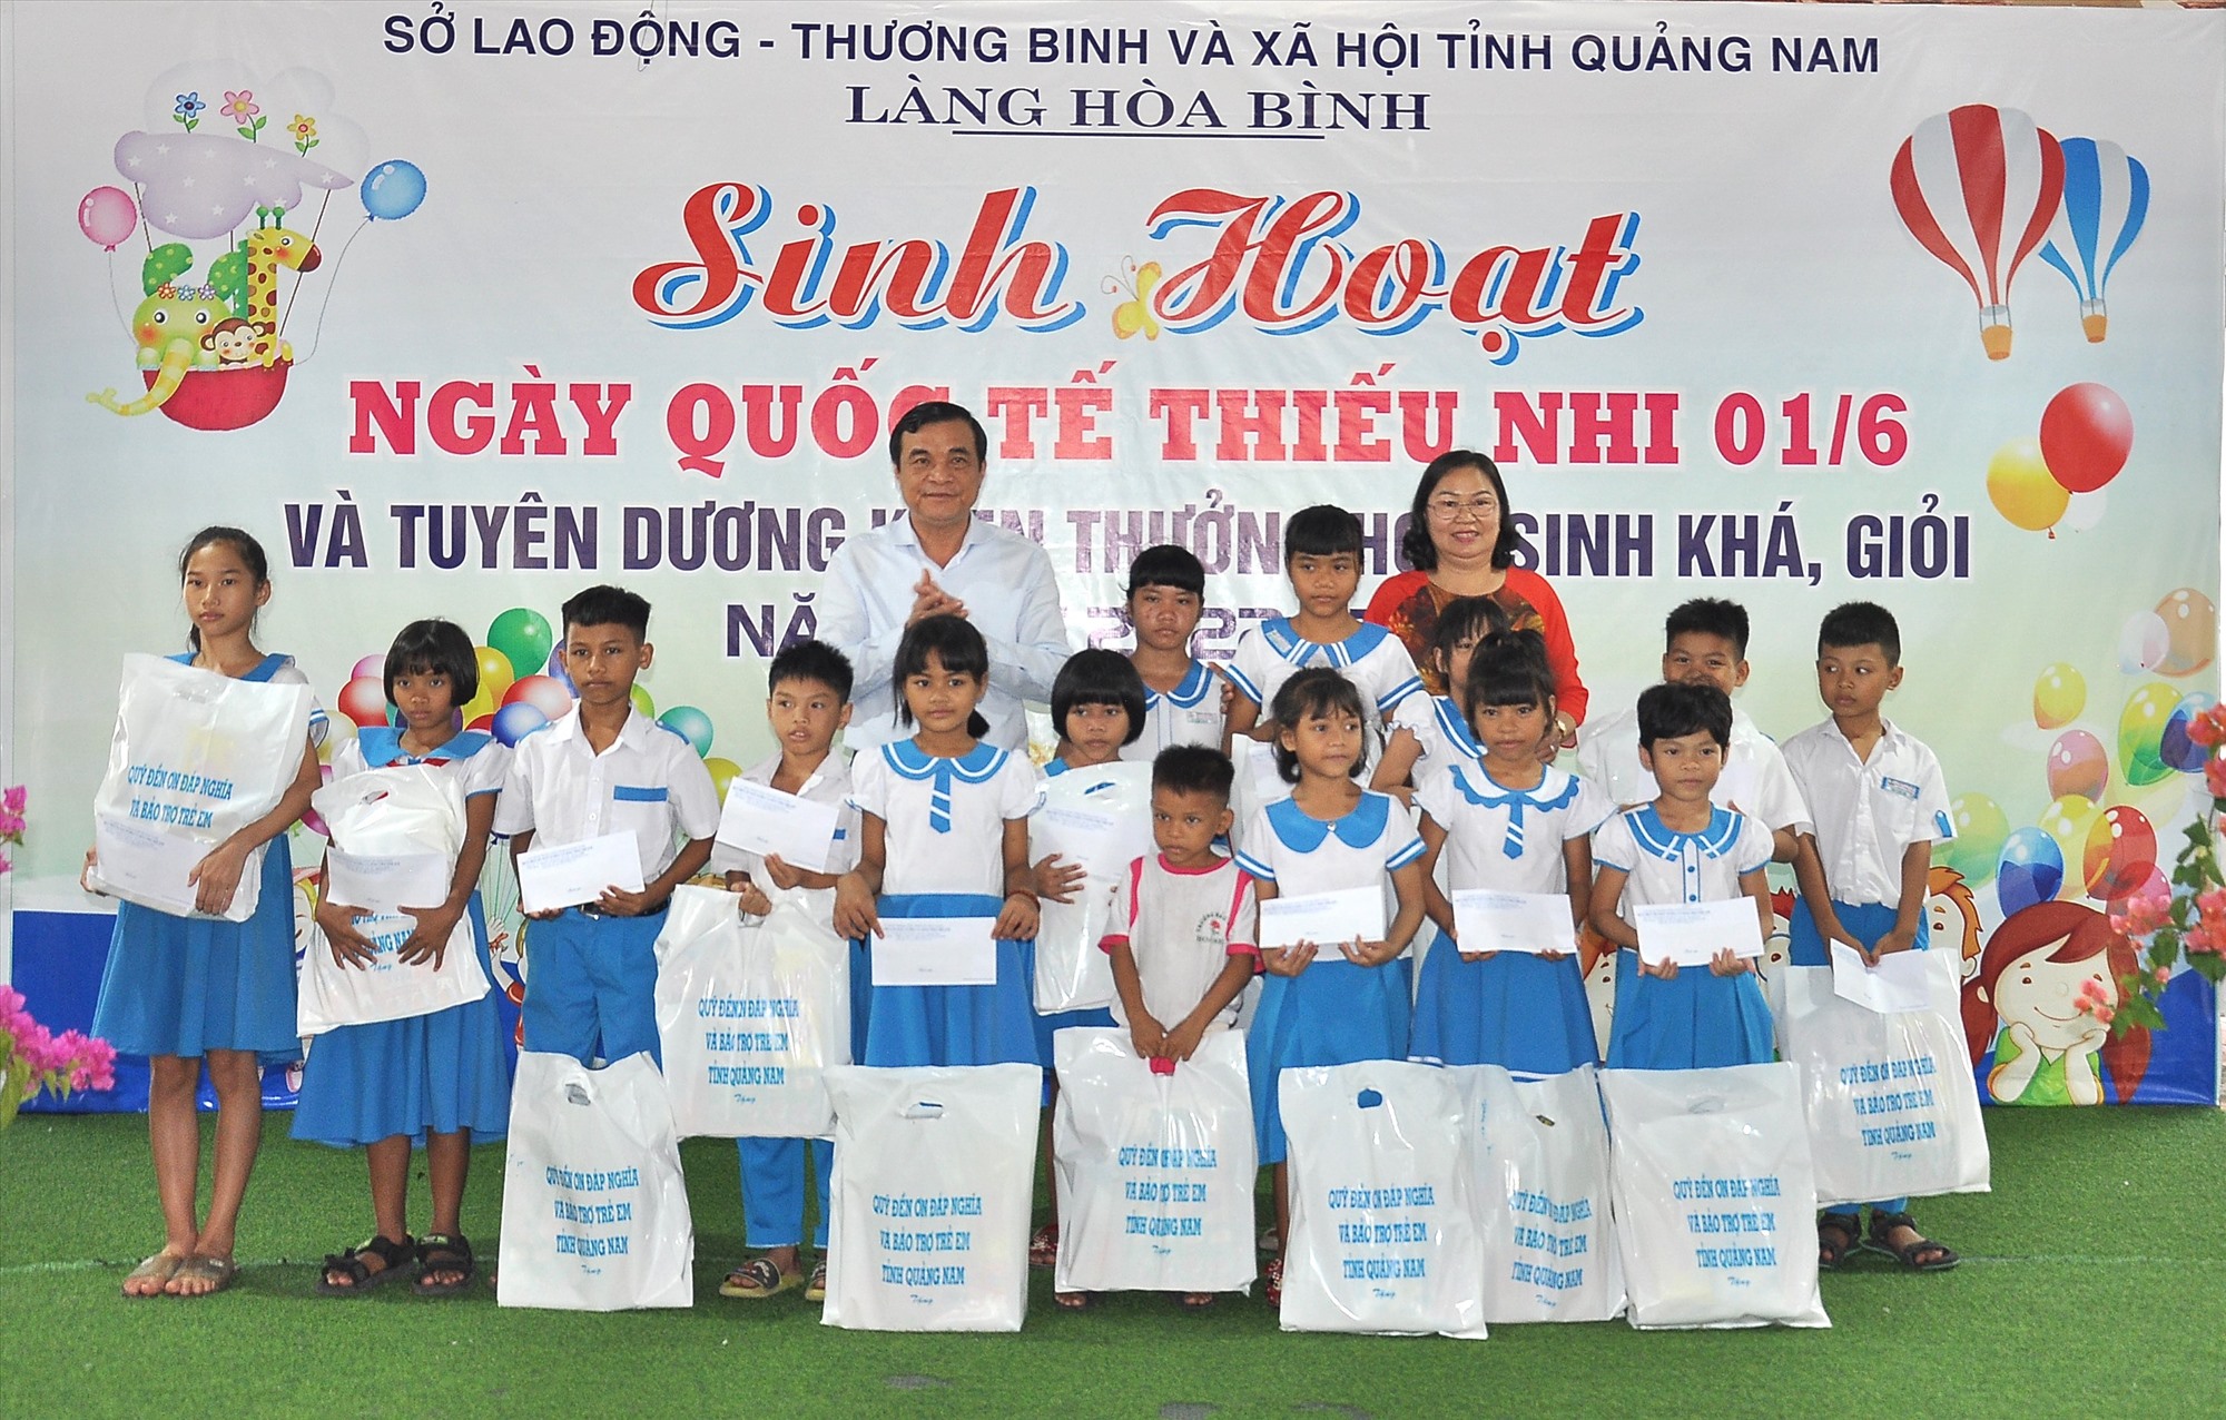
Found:
<svg viewBox="0 0 2226 1420"><path fill-rule="evenodd" d="M191 650L174 661L238 681L307 686L294 657L254 645L256 612L272 599L269 559L238 527L203 527L178 559ZM198 1298L232 1286L234 1231L247 1175L263 1142L263 1066L301 1059L294 1035L294 861L285 832L316 792L309 741L278 808L209 850L194 868L196 915L171 917L122 901L100 977L93 1033L122 1055L145 1055L147 1140L162 1195L162 1251L125 1278L127 1298ZM85 855L87 868L93 855ZM243 872L258 872L256 913L218 921ZM216 1180L198 1213L200 1120L196 1095L207 1062L216 1086Z"/></svg>

